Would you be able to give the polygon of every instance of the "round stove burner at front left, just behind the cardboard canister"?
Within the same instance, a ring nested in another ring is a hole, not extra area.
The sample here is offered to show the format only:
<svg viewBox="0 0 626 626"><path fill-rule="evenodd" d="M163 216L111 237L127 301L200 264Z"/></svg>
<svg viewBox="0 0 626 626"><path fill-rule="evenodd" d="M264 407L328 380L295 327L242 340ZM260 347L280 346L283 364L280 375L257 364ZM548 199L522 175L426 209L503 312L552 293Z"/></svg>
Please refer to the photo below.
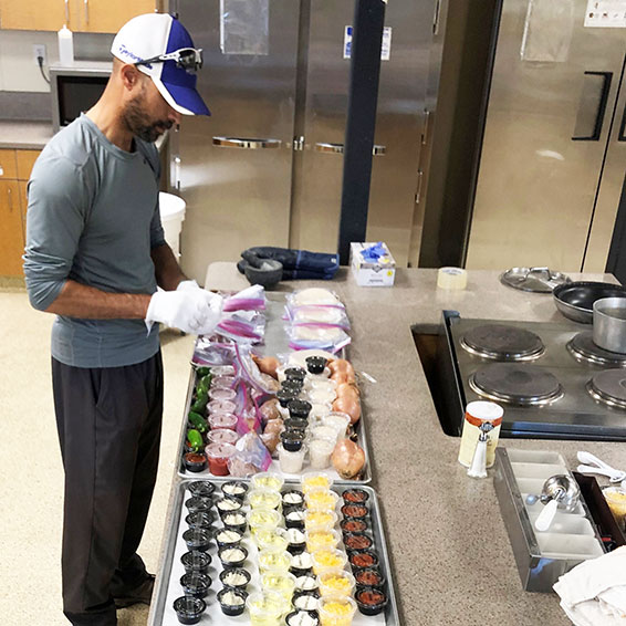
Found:
<svg viewBox="0 0 626 626"><path fill-rule="evenodd" d="M480 396L520 406L546 405L563 396L556 376L536 365L486 365L471 375L469 385Z"/></svg>

